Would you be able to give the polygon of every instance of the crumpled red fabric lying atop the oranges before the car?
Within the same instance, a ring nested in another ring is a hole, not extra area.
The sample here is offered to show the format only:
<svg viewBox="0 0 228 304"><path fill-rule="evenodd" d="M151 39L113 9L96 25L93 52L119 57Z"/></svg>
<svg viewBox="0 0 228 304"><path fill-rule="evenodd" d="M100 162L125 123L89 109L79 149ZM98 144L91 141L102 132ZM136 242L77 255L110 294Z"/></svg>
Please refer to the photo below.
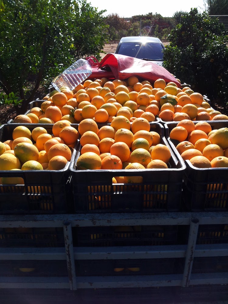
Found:
<svg viewBox="0 0 228 304"><path fill-rule="evenodd" d="M111 72L102 71L102 68L109 67ZM102 76L101 76L102 75ZM166 82L173 81L180 87L179 81L168 72L164 67L154 64L152 61L146 61L119 54L107 54L97 65L92 67L90 78L106 77L116 79L126 79L131 75L154 82L158 78L163 78ZM110 77L111 76L111 77Z"/></svg>

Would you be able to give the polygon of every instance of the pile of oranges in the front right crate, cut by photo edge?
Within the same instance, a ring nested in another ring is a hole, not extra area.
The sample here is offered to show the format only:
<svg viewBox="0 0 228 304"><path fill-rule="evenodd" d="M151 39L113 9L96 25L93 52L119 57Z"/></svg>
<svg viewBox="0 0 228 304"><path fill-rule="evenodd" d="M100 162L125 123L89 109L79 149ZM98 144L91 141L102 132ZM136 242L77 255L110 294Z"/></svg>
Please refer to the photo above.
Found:
<svg viewBox="0 0 228 304"><path fill-rule="evenodd" d="M193 123L184 119L170 131L170 139L178 140L176 149L184 160L197 168L228 167L228 128L212 130L206 121Z"/></svg>

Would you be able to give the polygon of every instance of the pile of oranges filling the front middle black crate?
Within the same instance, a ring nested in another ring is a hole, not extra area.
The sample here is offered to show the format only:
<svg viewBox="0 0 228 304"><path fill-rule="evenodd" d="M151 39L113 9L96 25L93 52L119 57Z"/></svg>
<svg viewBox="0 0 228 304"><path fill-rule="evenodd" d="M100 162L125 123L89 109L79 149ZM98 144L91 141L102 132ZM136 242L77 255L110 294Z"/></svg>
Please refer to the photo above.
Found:
<svg viewBox="0 0 228 304"><path fill-rule="evenodd" d="M79 123L78 132L79 170L168 168L171 152L161 143L159 133L150 131L145 118L136 118L130 124L120 115L100 129L93 119L87 118ZM125 182L133 182L132 177L125 177Z"/></svg>

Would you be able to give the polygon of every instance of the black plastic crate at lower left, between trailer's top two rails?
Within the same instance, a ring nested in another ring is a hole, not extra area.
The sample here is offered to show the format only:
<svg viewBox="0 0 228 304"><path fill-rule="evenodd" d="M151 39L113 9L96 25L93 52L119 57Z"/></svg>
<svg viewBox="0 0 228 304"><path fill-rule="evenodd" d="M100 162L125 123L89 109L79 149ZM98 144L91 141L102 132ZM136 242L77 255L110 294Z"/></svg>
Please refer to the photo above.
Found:
<svg viewBox="0 0 228 304"><path fill-rule="evenodd" d="M63 228L1 228L0 247L64 247Z"/></svg>

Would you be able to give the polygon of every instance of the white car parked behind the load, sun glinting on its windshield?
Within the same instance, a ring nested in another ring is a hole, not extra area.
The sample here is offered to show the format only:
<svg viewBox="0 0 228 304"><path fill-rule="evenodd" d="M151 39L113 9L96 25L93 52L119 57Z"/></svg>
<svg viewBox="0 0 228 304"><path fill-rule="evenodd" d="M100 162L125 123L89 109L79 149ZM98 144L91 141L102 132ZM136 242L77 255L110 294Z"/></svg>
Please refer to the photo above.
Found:
<svg viewBox="0 0 228 304"><path fill-rule="evenodd" d="M164 48L161 40L156 37L123 37L119 41L115 54L153 61L157 65L162 65Z"/></svg>

